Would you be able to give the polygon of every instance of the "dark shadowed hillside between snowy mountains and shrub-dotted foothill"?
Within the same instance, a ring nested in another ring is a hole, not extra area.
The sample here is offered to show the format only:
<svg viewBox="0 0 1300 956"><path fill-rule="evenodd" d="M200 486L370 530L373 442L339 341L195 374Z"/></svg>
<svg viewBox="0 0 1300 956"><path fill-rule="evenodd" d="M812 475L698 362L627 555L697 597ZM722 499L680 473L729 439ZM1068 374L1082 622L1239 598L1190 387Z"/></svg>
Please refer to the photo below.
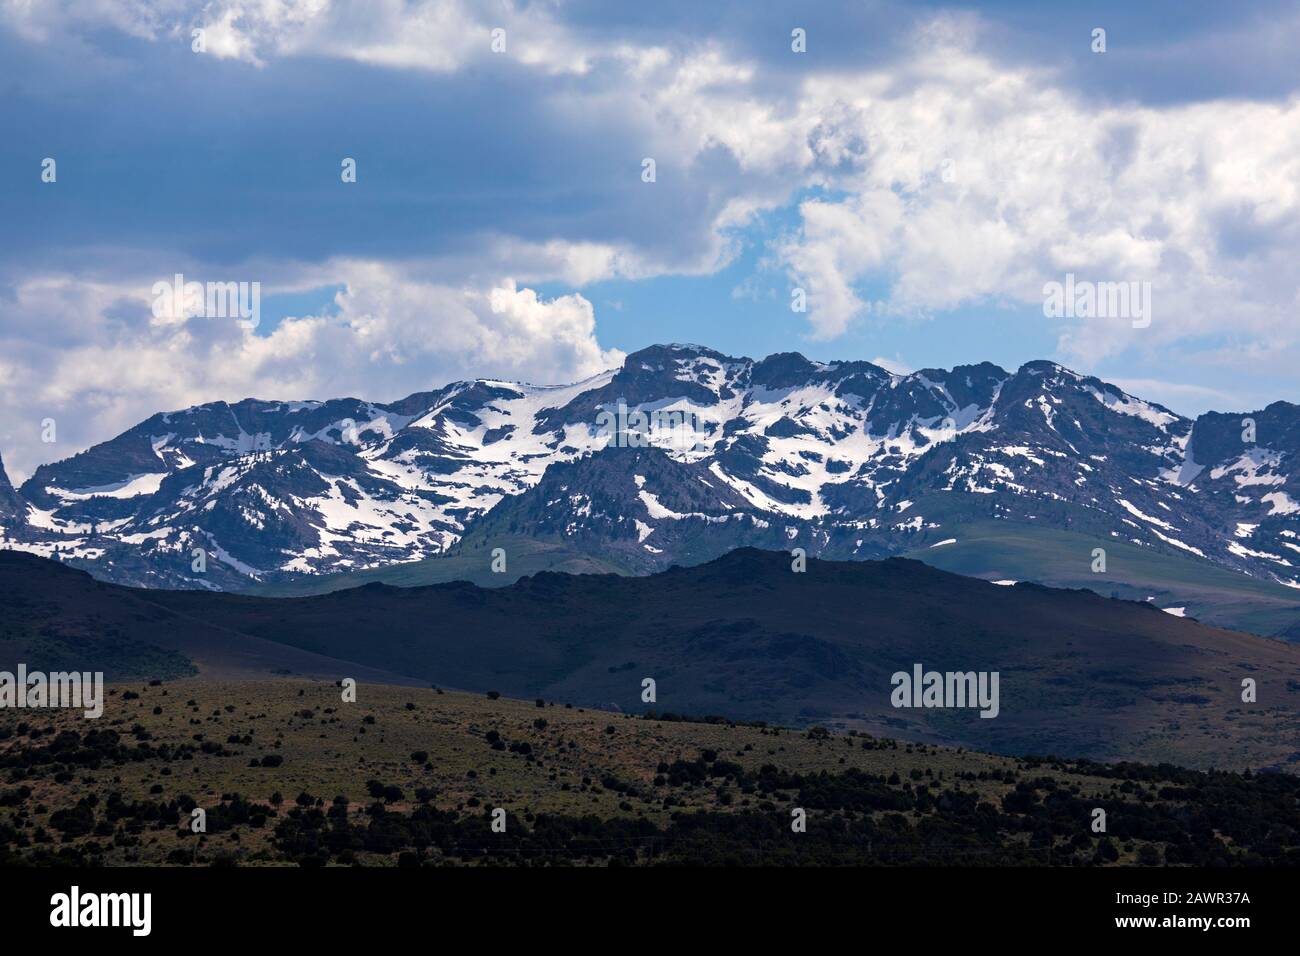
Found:
<svg viewBox="0 0 1300 956"><path fill-rule="evenodd" d="M287 600L133 592L23 555L0 562L23 593L6 598L6 618L36 607L56 627L74 618L116 627L217 670L226 648L280 648L318 656L313 672L321 658L339 662L337 678L369 667L508 696L836 723L994 752L1196 766L1300 760L1300 648L915 561L812 561L794 574L788 555L740 550L641 579L541 574L497 589L368 585ZM47 589L57 598L42 598ZM150 622L148 607L174 617ZM997 671L998 715L890 706L890 675L916 663ZM642 702L645 678L656 682L654 704ZM1240 700L1244 678L1257 702Z"/></svg>

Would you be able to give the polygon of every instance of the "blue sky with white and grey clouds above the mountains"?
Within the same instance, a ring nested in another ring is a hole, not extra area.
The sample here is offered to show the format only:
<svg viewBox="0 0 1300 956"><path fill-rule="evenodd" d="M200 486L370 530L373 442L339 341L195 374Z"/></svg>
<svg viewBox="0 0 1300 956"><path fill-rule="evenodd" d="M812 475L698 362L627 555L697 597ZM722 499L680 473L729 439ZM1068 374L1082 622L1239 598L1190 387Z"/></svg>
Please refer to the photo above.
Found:
<svg viewBox="0 0 1300 956"><path fill-rule="evenodd" d="M0 454L664 341L1300 401L1297 42L1268 3L0 3ZM176 273L260 325L155 315ZM1045 317L1066 273L1150 325Z"/></svg>

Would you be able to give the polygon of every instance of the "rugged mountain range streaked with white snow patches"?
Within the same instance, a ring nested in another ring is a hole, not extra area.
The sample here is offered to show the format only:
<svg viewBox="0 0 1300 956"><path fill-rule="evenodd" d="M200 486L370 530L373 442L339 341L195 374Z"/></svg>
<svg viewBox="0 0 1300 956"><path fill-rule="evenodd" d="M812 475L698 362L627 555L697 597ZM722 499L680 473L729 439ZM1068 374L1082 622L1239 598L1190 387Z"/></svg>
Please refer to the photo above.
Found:
<svg viewBox="0 0 1300 956"><path fill-rule="evenodd" d="M1191 420L1050 362L894 375L670 345L573 385L159 414L17 490L0 464L0 546L243 588L506 535L640 571L740 545L868 558L978 518L1300 588L1297 457L1287 402Z"/></svg>

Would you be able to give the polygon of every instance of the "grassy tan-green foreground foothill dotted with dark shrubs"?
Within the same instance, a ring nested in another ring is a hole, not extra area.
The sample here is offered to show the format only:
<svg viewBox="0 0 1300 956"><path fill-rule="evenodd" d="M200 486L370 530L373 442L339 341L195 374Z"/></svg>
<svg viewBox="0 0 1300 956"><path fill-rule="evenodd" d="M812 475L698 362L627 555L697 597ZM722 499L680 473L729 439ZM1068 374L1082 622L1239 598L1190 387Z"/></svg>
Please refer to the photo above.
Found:
<svg viewBox="0 0 1300 956"><path fill-rule="evenodd" d="M1290 774L380 684L109 689L99 721L0 711L8 865L1300 864Z"/></svg>

